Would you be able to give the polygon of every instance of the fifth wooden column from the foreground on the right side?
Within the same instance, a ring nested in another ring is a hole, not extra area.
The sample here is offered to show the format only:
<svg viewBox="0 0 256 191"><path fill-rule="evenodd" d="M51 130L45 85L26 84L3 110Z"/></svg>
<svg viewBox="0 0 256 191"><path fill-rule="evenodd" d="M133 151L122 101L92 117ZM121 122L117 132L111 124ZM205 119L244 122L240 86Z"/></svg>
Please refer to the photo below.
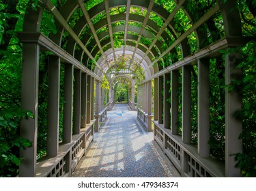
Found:
<svg viewBox="0 0 256 191"><path fill-rule="evenodd" d="M171 103L169 103L167 100L171 99L171 93L169 93L171 87L171 74L167 73L165 74L165 80L164 80L164 126L166 129L171 128Z"/></svg>

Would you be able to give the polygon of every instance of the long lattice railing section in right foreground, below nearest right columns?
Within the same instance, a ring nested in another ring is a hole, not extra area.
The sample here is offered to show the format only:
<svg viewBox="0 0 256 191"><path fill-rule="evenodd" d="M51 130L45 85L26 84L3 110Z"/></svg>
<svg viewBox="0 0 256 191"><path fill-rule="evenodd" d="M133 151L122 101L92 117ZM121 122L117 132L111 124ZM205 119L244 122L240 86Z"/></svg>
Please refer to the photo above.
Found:
<svg viewBox="0 0 256 191"><path fill-rule="evenodd" d="M224 177L224 164L213 158L201 158L197 147L182 143L182 138L171 135L170 129L154 121L154 140L184 177Z"/></svg>

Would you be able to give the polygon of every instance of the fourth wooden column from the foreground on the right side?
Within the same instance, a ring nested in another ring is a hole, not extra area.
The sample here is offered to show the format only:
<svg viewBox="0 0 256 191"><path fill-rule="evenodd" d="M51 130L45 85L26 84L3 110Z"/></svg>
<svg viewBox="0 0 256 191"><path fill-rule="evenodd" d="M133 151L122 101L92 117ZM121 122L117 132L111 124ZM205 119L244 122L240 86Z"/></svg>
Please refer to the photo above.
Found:
<svg viewBox="0 0 256 191"><path fill-rule="evenodd" d="M171 71L171 134L178 134L179 121L179 70Z"/></svg>

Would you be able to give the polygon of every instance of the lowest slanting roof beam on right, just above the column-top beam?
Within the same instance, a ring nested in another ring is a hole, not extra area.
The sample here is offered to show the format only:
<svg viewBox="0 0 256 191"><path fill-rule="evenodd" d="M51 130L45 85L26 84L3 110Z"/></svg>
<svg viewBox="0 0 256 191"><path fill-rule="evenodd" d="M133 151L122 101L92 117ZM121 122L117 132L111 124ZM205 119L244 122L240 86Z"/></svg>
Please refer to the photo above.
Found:
<svg viewBox="0 0 256 191"><path fill-rule="evenodd" d="M155 63L157 63L162 57L164 57L167 53L169 53L173 48L175 48L175 46L177 46L177 44L180 44L180 42L182 42L184 39L186 39L188 37L188 35L190 35L190 33L192 33L193 31L195 31L198 27L200 27L201 25L203 25L203 23L205 23L209 18L211 18L216 12L218 12L218 10L220 10L218 3L216 3L216 5L214 5L214 7L212 7L206 14L204 14L201 18L199 18L199 20L197 20L196 23L194 23L192 25L192 27L190 27L190 29L188 29L187 31L185 31L182 35L180 35L179 38L177 38L177 40L175 40L175 42L173 42L173 44L171 44L171 46L169 46L169 48L167 48L167 50L165 50L157 59L155 59L151 65L149 65L146 70L149 70Z"/></svg>

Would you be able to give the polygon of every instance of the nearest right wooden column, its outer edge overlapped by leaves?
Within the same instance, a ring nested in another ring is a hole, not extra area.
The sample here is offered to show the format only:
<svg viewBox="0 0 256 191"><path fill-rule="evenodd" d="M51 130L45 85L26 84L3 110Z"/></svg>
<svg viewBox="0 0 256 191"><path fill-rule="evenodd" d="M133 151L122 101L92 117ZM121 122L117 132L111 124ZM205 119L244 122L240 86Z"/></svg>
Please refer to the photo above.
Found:
<svg viewBox="0 0 256 191"><path fill-rule="evenodd" d="M239 80L241 70L236 68L236 62L240 59L237 53L230 53L225 57L225 84L231 85L232 80ZM236 90L225 90L225 173L226 177L240 177L240 168L236 166L237 160L234 154L242 153L242 140L239 135L242 132L242 121L234 117L242 108L242 98Z"/></svg>

